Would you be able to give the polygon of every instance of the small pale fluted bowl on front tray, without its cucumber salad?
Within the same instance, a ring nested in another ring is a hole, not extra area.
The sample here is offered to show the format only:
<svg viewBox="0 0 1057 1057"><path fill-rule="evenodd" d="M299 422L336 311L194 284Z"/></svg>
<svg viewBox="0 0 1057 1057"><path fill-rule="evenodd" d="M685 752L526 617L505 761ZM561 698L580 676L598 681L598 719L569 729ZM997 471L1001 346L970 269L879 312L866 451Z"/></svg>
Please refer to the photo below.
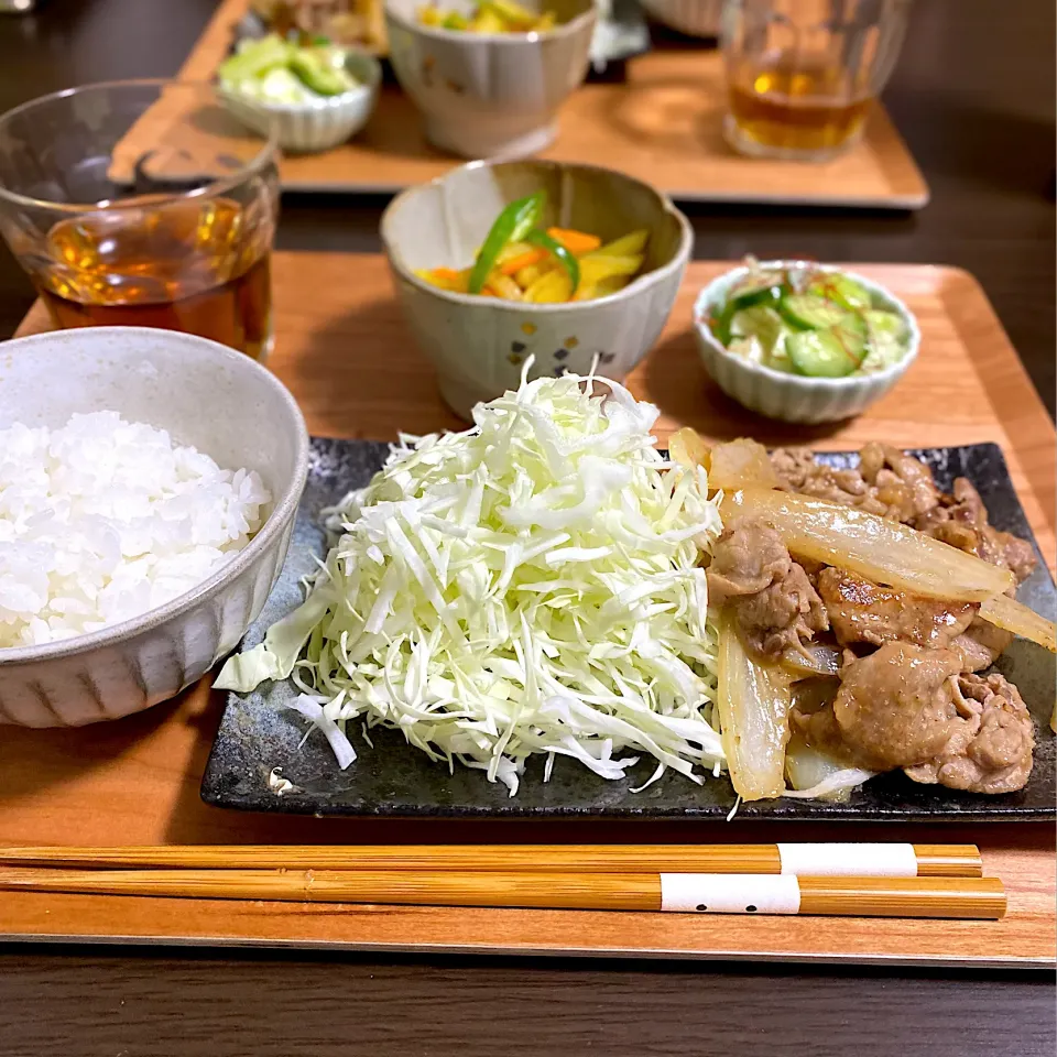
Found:
<svg viewBox="0 0 1057 1057"><path fill-rule="evenodd" d="M917 319L898 297L879 283L843 268L818 265L809 261L761 261L759 268L811 268L817 271L840 272L870 291L876 305L897 313L907 326L909 340L906 355L897 363L883 371L849 374L846 378L789 374L734 356L727 351L712 333L709 320L716 309L726 304L730 290L749 272L748 268L735 268L713 280L701 291L694 305L694 328L697 347L708 373L728 396L750 411L769 418L805 424L850 418L892 389L917 357L922 341Z"/></svg>

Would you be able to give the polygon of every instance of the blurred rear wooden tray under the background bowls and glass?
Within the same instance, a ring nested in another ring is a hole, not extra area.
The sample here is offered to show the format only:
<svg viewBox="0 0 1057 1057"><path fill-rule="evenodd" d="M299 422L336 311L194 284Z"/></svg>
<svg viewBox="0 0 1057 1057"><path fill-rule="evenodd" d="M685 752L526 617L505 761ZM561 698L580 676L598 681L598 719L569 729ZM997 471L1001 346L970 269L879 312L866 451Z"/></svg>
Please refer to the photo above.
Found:
<svg viewBox="0 0 1057 1057"><path fill-rule="evenodd" d="M179 76L209 80L231 45L249 0L225 0ZM864 139L831 162L764 161L723 141L722 56L716 50L655 51L631 59L625 84L587 84L565 105L558 139L542 157L609 165L687 201L753 201L920 209L928 187L884 108L872 108ZM285 190L402 190L461 159L429 146L414 103L382 88L367 128L323 154L284 157Z"/></svg>

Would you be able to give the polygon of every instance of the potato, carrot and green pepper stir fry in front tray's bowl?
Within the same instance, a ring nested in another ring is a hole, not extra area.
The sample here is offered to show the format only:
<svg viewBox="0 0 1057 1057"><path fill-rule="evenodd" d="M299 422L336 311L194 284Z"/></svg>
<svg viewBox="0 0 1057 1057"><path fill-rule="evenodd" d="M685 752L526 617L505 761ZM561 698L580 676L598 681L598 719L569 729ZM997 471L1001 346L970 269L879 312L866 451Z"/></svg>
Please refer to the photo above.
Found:
<svg viewBox="0 0 1057 1057"><path fill-rule="evenodd" d="M649 232L630 231L602 244L597 235L541 227L543 192L500 213L473 265L431 268L419 279L440 290L531 304L565 304L606 297L642 270Z"/></svg>

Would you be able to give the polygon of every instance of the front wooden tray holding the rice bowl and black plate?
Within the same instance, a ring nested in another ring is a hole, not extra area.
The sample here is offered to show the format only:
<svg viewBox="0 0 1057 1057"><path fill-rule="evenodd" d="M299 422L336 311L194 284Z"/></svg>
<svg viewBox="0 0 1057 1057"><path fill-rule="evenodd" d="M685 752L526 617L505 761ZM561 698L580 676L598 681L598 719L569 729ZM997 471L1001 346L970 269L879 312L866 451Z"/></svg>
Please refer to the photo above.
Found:
<svg viewBox="0 0 1057 1057"><path fill-rule="evenodd" d="M906 447L993 440L1043 553L1054 558L1055 435L976 281L954 269L854 265L917 315L922 352L897 389L861 417L826 427L772 423L729 401L705 374L689 333L697 291L729 264L691 263L657 347L630 377L663 414L713 438L847 449L871 438ZM440 402L375 255L276 253L275 373L312 433L394 439L460 423ZM48 328L36 305L20 328ZM350 949L634 955L1038 967L1055 960L1054 829L1048 825L890 826L752 822L589 824L318 819L222 811L198 789L224 696L199 685L175 701L78 730L0 732L0 843L399 843L916 840L979 843L1002 878L999 923L436 907L264 904L4 893L0 938L106 942L323 946Z"/></svg>

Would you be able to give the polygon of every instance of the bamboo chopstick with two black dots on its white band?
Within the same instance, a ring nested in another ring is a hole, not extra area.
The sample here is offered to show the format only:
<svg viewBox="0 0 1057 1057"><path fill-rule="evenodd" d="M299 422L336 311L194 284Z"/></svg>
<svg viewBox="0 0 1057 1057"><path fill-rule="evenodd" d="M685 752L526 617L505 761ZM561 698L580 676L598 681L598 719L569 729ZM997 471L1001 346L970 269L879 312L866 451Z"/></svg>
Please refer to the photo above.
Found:
<svg viewBox="0 0 1057 1057"><path fill-rule="evenodd" d="M996 878L0 869L0 889L97 895L429 906L990 918Z"/></svg>

